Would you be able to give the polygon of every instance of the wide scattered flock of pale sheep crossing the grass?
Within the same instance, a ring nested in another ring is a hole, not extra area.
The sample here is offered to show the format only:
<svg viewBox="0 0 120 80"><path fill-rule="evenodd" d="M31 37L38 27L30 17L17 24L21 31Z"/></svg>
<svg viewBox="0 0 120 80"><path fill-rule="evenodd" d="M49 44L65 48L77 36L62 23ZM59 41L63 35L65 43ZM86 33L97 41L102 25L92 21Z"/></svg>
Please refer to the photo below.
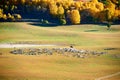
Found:
<svg viewBox="0 0 120 80"><path fill-rule="evenodd" d="M106 52L79 50L73 47L70 48L27 48L27 49L14 49L10 51L12 54L24 54L24 55L53 55L60 54L64 56L72 56L77 58L85 58L88 56L100 56L106 54Z"/></svg>

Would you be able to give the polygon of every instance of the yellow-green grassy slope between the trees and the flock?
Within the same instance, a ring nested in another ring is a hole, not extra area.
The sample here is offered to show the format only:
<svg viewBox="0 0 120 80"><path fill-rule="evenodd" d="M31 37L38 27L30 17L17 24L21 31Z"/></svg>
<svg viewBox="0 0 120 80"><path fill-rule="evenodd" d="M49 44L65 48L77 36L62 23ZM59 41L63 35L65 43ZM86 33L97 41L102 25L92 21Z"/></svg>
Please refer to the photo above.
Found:
<svg viewBox="0 0 120 80"><path fill-rule="evenodd" d="M33 23L0 23L0 43L36 42L75 44L78 46L119 46L119 25L113 25L111 31L106 26L71 25L40 26Z"/></svg>

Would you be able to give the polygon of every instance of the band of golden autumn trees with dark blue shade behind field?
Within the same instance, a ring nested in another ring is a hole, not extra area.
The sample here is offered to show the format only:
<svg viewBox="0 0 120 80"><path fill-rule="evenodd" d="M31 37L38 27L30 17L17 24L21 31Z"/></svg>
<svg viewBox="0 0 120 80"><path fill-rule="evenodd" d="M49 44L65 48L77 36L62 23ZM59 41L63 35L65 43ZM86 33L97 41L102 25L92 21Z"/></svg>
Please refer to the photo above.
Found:
<svg viewBox="0 0 120 80"><path fill-rule="evenodd" d="M120 0L0 0L0 21L26 16L57 24L120 23Z"/></svg>

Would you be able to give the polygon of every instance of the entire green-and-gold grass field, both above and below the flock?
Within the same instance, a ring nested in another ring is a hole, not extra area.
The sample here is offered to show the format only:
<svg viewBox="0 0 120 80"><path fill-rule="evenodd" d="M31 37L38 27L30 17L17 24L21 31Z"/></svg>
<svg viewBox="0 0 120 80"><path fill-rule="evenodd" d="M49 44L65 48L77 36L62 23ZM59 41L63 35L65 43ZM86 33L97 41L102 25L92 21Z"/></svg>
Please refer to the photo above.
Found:
<svg viewBox="0 0 120 80"><path fill-rule="evenodd" d="M108 31L103 25L44 27L26 22L0 23L0 43L30 42L59 44L58 47L106 51L90 58L61 55L13 55L11 49L0 49L0 80L95 80L120 72L120 25ZM108 80L119 80L120 75Z"/></svg>

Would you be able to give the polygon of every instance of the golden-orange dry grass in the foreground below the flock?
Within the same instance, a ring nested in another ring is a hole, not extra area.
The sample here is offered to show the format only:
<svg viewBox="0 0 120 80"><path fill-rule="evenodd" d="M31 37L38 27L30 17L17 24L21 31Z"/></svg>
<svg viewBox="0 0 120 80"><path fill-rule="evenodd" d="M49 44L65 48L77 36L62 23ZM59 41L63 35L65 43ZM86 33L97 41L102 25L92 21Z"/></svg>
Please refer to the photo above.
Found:
<svg viewBox="0 0 120 80"><path fill-rule="evenodd" d="M120 71L120 59L111 55L74 58L62 55L28 56L9 54L1 49L0 78L2 80L94 80Z"/></svg>

